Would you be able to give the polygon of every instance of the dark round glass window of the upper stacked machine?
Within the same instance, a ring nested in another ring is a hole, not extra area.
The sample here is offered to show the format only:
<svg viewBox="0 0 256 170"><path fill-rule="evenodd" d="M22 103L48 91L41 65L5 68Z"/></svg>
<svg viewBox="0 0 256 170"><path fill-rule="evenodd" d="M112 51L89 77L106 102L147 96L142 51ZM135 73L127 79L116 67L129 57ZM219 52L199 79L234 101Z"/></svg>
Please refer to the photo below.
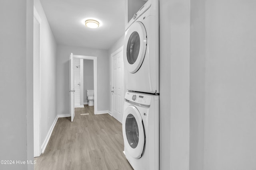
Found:
<svg viewBox="0 0 256 170"><path fill-rule="evenodd" d="M128 63L134 64L138 58L139 52L140 52L140 35L138 34L138 32L134 31L130 35L127 43L126 55L127 55Z"/></svg>

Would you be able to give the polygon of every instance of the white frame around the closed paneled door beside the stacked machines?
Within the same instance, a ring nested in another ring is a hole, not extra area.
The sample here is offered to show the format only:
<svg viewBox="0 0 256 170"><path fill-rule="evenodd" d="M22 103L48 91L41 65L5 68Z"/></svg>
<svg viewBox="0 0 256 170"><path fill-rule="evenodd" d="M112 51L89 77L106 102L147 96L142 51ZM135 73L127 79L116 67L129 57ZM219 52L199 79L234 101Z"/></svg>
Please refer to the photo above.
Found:
<svg viewBox="0 0 256 170"><path fill-rule="evenodd" d="M114 51L112 54L111 54L111 84L112 86L110 87L111 90L112 90L112 87L114 86L114 72L113 72L113 57L115 55L117 55L118 53L120 53L122 50L124 49L124 46L122 45L121 47L119 47L116 51ZM122 53L122 55L124 55ZM122 56L122 59L123 59L124 56ZM123 59L123 63L124 63L124 59ZM123 65L123 77L124 77L124 65ZM125 78L123 78L123 97L125 96ZM111 91L110 90L110 91ZM124 99L124 98L123 98ZM113 109L114 109L114 97L112 95L112 92L111 92L111 113L112 113L112 116L113 116ZM124 108L123 108L124 109ZM124 114L124 113L123 113ZM121 122L122 123L122 122Z"/></svg>

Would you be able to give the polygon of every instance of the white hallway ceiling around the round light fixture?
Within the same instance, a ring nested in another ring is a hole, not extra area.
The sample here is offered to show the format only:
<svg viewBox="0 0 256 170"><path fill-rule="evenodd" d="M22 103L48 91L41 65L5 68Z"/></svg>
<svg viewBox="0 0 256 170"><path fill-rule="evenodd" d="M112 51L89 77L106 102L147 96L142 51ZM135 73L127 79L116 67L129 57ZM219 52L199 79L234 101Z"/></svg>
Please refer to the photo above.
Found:
<svg viewBox="0 0 256 170"><path fill-rule="evenodd" d="M109 49L124 35L124 0L40 0L58 44ZM85 18L102 22L97 29Z"/></svg>

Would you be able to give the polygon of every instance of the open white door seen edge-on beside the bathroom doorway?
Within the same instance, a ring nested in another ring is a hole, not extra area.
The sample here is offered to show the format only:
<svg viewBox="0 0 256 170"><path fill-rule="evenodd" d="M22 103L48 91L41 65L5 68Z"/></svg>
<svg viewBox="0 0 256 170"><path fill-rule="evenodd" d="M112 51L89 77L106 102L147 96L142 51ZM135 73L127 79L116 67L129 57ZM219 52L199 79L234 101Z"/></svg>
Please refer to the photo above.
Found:
<svg viewBox="0 0 256 170"><path fill-rule="evenodd" d="M71 121L73 122L74 117L75 117L75 80L74 80L74 69L73 69L73 53L70 54L70 59L69 59L69 84L70 84L70 114L71 114Z"/></svg>

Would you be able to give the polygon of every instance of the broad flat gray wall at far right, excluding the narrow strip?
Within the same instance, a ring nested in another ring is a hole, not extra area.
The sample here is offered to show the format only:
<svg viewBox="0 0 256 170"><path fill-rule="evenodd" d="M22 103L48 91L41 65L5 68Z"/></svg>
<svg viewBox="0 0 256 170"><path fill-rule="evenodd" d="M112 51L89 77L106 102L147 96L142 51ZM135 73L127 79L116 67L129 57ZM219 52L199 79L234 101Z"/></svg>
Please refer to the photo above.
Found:
<svg viewBox="0 0 256 170"><path fill-rule="evenodd" d="M256 1L205 6L204 169L256 169Z"/></svg>

